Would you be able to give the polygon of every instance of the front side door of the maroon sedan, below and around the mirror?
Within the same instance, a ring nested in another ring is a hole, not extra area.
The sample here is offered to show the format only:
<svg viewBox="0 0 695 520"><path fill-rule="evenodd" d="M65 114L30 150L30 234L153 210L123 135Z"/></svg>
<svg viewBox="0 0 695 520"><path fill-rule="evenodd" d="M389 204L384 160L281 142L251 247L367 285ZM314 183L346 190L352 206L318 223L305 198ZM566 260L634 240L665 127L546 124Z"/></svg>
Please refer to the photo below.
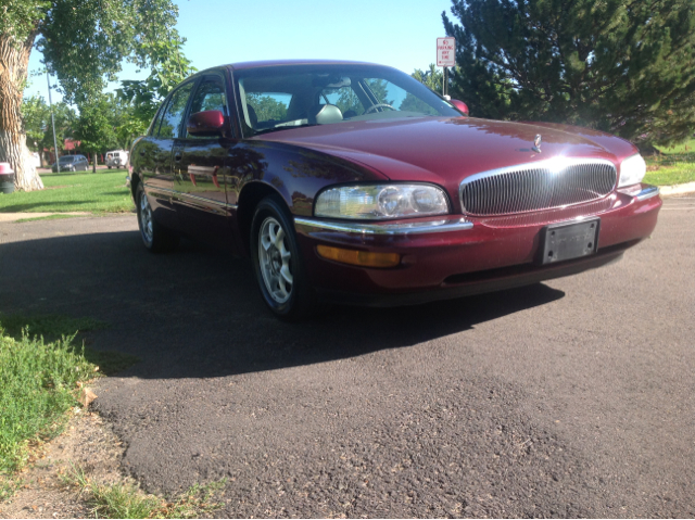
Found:
<svg viewBox="0 0 695 520"><path fill-rule="evenodd" d="M189 106L189 116L197 112L219 111L226 117L224 137L197 137L186 132L180 155L175 151L175 203L181 228L208 243L232 245L231 205L227 202L229 167L226 158L235 141L229 139L229 110L225 79L222 74L200 78Z"/></svg>

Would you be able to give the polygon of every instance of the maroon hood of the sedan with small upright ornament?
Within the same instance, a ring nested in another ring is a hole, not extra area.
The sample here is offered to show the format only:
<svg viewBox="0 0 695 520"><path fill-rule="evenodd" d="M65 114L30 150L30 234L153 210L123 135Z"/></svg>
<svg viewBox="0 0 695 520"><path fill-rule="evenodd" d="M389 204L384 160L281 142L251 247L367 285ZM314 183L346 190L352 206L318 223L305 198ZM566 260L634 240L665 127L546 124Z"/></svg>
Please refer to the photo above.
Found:
<svg viewBox="0 0 695 520"><path fill-rule="evenodd" d="M542 136L541 153L532 150L536 135ZM430 181L450 188L480 172L556 156L606 158L617 165L636 153L628 141L602 132L472 117L343 122L266 134L253 140L340 156L392 180Z"/></svg>

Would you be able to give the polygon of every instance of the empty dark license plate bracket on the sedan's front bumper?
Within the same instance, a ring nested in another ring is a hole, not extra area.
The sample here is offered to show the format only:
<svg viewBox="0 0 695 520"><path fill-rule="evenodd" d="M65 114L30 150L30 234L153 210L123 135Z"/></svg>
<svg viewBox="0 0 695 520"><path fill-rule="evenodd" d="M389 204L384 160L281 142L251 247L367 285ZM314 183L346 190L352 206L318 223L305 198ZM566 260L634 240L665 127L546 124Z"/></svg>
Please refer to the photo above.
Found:
<svg viewBox="0 0 695 520"><path fill-rule="evenodd" d="M601 218L545 226L541 232L541 264L554 264L596 253L599 227Z"/></svg>

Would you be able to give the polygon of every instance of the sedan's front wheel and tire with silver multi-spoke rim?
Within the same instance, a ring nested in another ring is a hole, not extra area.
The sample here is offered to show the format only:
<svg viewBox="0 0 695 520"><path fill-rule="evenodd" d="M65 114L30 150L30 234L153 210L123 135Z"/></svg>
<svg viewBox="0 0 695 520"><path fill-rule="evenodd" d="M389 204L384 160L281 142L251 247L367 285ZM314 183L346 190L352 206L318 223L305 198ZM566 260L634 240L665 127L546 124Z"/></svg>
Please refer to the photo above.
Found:
<svg viewBox="0 0 695 520"><path fill-rule="evenodd" d="M279 196L256 206L251 224L251 259L263 301L280 319L296 321L316 314L292 219Z"/></svg>

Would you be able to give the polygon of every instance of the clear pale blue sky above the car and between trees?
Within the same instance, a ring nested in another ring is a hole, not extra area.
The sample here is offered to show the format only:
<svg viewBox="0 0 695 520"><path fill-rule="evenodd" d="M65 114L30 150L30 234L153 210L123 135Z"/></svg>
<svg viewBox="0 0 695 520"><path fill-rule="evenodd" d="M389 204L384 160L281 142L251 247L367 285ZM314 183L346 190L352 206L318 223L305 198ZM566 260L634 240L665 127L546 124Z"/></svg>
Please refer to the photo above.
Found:
<svg viewBox="0 0 695 520"><path fill-rule="evenodd" d="M175 0L186 56L199 71L224 63L276 59L329 59L380 63L412 74L437 60L446 36L441 13L451 0ZM29 72L41 71L34 50ZM119 79L142 79L124 64ZM29 78L25 96L48 101L46 75ZM55 85L51 77L51 85ZM117 88L111 84L109 90ZM53 102L60 101L58 92Z"/></svg>

